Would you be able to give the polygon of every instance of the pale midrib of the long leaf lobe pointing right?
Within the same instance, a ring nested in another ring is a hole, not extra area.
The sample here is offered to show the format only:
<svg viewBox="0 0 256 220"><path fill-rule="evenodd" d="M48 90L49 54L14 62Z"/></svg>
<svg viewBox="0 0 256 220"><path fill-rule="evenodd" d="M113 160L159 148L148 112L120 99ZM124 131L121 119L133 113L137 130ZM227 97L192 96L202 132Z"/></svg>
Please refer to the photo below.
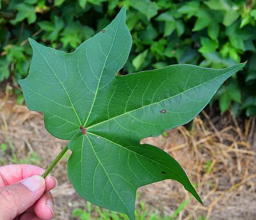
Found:
<svg viewBox="0 0 256 220"><path fill-rule="evenodd" d="M141 106L141 107L139 107L139 108L133 109L132 111L125 112L125 113L123 113L123 114L121 114L121 115L115 116L115 117L110 118L110 119L108 119L108 120L99 122L99 123L97 123L97 124L93 124L93 125L87 127L87 129L90 129L90 128L95 127L95 126L97 126L97 125L100 125L100 124L102 124L102 123L111 121L111 120L116 119L116 118L118 118L118 117L121 117L121 116L123 116L123 115L130 114L130 113L135 112L135 111L137 111L137 110L139 110L139 109L141 109L141 108L144 108L144 107L147 107L147 106L151 106L151 105L154 105L154 104L163 102L163 101L168 100L168 99L172 99L172 98L174 98L174 97L176 97L176 96L179 96L179 95L181 95L181 94L183 94L183 93L186 93L186 92L188 92L188 91L190 91L190 90L194 90L194 89L196 89L196 88L199 87L199 86L202 86L202 85L204 85L204 84L206 84L206 83L209 83L209 82L211 82L211 81L213 81L213 80L216 80L216 79L222 77L223 75L228 74L229 72L236 71L237 69L240 69L240 68L241 68L241 67L239 66L239 67L237 67L236 69L233 69L233 70L230 70L230 71L228 71L228 72L225 72L225 73L223 73L222 75L217 76L216 78L210 79L209 81L206 81L206 82L204 82L204 83L202 83L202 84L199 84L199 85L196 85L196 86L194 86L194 87L191 87L190 89L188 89L188 90L186 90L186 91L183 91L183 92L181 92L181 93L179 93L179 94L176 94L176 95L174 95L174 96L172 96L172 97L169 97L169 98L160 100L160 101L158 101L158 102L150 103L150 104L148 104L148 105ZM116 76L116 77L120 77L120 76Z"/></svg>

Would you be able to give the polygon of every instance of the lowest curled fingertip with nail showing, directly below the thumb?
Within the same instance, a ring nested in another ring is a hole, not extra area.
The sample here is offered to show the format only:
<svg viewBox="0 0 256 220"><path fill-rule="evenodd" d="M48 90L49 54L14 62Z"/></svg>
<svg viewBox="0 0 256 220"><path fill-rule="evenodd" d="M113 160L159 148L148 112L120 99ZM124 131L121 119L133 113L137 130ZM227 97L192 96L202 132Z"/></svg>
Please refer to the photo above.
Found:
<svg viewBox="0 0 256 220"><path fill-rule="evenodd" d="M54 216L53 197L51 192L45 192L34 205L35 214L41 219L51 219Z"/></svg>

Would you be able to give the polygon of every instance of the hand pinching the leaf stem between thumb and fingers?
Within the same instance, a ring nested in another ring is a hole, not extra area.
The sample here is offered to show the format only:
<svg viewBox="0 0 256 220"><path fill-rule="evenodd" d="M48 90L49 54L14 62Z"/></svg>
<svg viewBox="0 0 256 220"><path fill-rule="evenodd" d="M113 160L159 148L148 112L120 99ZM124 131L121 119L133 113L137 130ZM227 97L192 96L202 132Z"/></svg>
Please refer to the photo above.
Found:
<svg viewBox="0 0 256 220"><path fill-rule="evenodd" d="M56 179L40 175L45 170L29 164L0 167L0 220L51 219Z"/></svg>

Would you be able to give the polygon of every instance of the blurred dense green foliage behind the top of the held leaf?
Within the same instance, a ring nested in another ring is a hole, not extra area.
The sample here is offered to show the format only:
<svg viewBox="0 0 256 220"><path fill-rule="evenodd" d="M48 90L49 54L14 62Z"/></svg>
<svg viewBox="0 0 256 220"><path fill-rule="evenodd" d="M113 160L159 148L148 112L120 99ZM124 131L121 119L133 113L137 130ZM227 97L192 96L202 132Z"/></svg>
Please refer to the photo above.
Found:
<svg viewBox="0 0 256 220"><path fill-rule="evenodd" d="M25 78L28 37L72 52L126 5L133 47L121 74L189 63L225 68L248 60L212 100L221 112L256 115L256 3L169 0L0 0L0 81ZM17 92L18 93L18 92Z"/></svg>

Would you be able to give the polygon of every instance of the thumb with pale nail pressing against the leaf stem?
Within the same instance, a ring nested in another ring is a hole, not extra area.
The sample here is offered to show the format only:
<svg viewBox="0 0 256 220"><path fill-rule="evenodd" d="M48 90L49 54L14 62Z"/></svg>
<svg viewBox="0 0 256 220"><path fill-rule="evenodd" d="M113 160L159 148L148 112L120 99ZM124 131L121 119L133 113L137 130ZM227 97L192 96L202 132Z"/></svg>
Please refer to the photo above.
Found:
<svg viewBox="0 0 256 220"><path fill-rule="evenodd" d="M45 187L45 179L40 175L33 175L0 188L0 219L11 220L26 211L44 193Z"/></svg>

